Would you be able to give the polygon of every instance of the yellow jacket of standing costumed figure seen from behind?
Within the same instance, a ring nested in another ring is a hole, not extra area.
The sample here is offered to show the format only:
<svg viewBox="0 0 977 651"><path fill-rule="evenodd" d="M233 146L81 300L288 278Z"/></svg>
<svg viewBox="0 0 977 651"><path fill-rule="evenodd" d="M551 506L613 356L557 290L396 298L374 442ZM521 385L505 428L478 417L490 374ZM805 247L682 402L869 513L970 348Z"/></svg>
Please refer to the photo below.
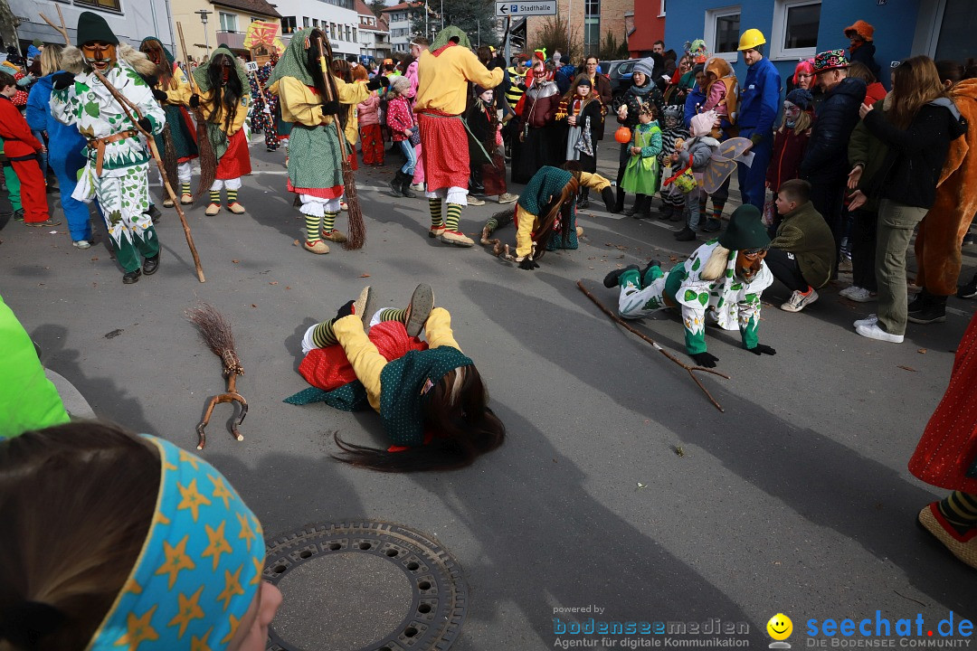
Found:
<svg viewBox="0 0 977 651"><path fill-rule="evenodd" d="M482 88L495 88L502 82L503 74L500 67L489 71L468 48L445 48L437 57L425 50L417 62L419 83L414 111L419 113L431 108L448 115L460 115L465 112L467 82Z"/></svg>

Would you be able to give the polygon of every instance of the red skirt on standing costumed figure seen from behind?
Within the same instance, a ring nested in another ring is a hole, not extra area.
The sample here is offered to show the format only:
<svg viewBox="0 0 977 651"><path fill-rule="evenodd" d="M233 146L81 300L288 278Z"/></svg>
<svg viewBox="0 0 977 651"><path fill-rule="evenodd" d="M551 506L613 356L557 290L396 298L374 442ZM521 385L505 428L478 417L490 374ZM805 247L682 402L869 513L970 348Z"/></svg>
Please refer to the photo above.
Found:
<svg viewBox="0 0 977 651"><path fill-rule="evenodd" d="M424 181L429 191L468 187L471 164L468 134L458 117L417 116L424 151Z"/></svg>

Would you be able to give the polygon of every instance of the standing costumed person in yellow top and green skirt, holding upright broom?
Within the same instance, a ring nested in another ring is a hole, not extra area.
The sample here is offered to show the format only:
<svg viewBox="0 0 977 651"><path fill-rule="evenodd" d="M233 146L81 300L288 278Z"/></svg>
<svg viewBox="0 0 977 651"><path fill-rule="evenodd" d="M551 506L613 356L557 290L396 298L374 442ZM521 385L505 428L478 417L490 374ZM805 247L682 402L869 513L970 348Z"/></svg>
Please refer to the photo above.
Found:
<svg viewBox="0 0 977 651"><path fill-rule="evenodd" d="M287 187L302 201L299 210L306 222L303 247L317 255L329 253L323 239L346 241L345 233L335 227L345 190L343 153L333 120L344 110L342 104L359 104L370 91L388 84L382 76L366 84L347 84L332 73L326 78L319 62L320 51L327 60L332 57L332 46L322 31L299 31L275 66L270 87L278 96L283 118L294 124L288 143Z"/></svg>

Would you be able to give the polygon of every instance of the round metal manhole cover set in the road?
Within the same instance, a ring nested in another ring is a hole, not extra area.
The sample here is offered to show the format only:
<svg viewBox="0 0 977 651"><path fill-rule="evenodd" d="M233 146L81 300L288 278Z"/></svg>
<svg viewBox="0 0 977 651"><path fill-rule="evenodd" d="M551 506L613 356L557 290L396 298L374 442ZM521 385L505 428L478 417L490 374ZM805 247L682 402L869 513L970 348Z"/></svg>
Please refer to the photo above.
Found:
<svg viewBox="0 0 977 651"><path fill-rule="evenodd" d="M267 651L444 651L468 610L457 561L389 522L284 534L269 543L264 578L284 595Z"/></svg>

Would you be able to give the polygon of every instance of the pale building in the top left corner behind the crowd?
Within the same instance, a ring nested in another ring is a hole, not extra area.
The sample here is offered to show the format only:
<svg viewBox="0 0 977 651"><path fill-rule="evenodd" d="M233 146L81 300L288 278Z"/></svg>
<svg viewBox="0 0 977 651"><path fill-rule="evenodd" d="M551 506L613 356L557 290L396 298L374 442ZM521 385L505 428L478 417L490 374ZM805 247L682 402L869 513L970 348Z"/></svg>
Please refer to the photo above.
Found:
<svg viewBox="0 0 977 651"><path fill-rule="evenodd" d="M53 2L47 0L9 0L10 9L20 24L17 37L21 53L35 38L45 43L64 45L64 38L47 22L41 20L43 13L49 19L58 21L58 7L64 14L68 36L74 43L78 16L85 11L95 12L106 19L119 41L139 45L150 34L173 48L176 37L171 28L170 4L167 0L71 0ZM10 44L8 44L10 45Z"/></svg>

